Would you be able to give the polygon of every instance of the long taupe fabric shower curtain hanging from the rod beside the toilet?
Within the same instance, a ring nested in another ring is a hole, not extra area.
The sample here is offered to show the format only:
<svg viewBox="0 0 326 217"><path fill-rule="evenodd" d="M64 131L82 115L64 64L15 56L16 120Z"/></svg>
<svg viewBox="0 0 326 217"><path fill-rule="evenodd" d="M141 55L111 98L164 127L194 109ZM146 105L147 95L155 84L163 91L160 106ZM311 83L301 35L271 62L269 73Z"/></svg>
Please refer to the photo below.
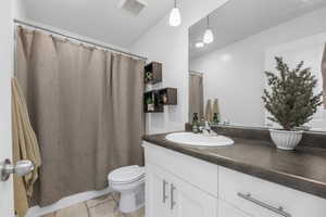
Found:
<svg viewBox="0 0 326 217"><path fill-rule="evenodd" d="M16 35L15 76L43 159L36 203L102 190L112 169L142 164L145 63L37 30Z"/></svg>

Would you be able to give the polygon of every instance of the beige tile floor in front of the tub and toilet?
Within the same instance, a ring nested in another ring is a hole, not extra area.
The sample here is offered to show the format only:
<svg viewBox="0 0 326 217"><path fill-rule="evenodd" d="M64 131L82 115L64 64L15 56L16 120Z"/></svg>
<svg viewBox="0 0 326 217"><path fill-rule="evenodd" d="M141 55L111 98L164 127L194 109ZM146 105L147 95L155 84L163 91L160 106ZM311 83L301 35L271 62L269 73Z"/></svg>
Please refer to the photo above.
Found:
<svg viewBox="0 0 326 217"><path fill-rule="evenodd" d="M117 194L108 194L42 217L145 217L143 208L133 214L120 213L117 209Z"/></svg>

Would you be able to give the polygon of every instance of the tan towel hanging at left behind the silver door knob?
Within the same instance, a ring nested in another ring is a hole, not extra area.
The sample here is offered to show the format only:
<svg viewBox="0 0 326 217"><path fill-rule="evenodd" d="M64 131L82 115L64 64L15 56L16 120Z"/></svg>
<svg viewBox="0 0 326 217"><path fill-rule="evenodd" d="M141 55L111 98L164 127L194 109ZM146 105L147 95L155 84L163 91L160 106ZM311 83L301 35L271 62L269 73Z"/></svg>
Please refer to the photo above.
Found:
<svg viewBox="0 0 326 217"><path fill-rule="evenodd" d="M15 212L18 217L24 217L28 209L27 197L33 195L33 186L38 178L41 157L36 135L29 123L27 105L16 78L11 80L11 90L13 163L29 159L35 166L34 171L25 177L14 176Z"/></svg>

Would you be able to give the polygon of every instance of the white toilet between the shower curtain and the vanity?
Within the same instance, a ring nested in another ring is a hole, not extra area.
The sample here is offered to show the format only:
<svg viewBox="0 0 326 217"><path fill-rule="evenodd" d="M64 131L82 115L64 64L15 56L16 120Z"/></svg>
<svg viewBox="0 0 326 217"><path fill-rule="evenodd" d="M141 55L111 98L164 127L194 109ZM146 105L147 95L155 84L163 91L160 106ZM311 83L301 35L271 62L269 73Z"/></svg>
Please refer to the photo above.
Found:
<svg viewBox="0 0 326 217"><path fill-rule="evenodd" d="M108 176L109 186L120 193L118 209L133 213L145 205L145 167L121 167Z"/></svg>

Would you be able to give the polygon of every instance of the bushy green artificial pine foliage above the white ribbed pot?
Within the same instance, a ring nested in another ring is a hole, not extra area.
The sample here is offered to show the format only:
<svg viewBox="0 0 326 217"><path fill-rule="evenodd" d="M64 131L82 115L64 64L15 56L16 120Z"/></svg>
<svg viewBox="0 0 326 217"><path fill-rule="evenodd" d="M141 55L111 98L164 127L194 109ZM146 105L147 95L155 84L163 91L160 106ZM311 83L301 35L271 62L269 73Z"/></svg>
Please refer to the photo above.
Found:
<svg viewBox="0 0 326 217"><path fill-rule="evenodd" d="M273 115L269 120L278 123L285 130L294 130L312 119L323 103L323 93L314 94L317 79L311 68L303 68L301 61L289 69L283 58L275 58L279 75L265 72L271 90L264 90L265 108Z"/></svg>

